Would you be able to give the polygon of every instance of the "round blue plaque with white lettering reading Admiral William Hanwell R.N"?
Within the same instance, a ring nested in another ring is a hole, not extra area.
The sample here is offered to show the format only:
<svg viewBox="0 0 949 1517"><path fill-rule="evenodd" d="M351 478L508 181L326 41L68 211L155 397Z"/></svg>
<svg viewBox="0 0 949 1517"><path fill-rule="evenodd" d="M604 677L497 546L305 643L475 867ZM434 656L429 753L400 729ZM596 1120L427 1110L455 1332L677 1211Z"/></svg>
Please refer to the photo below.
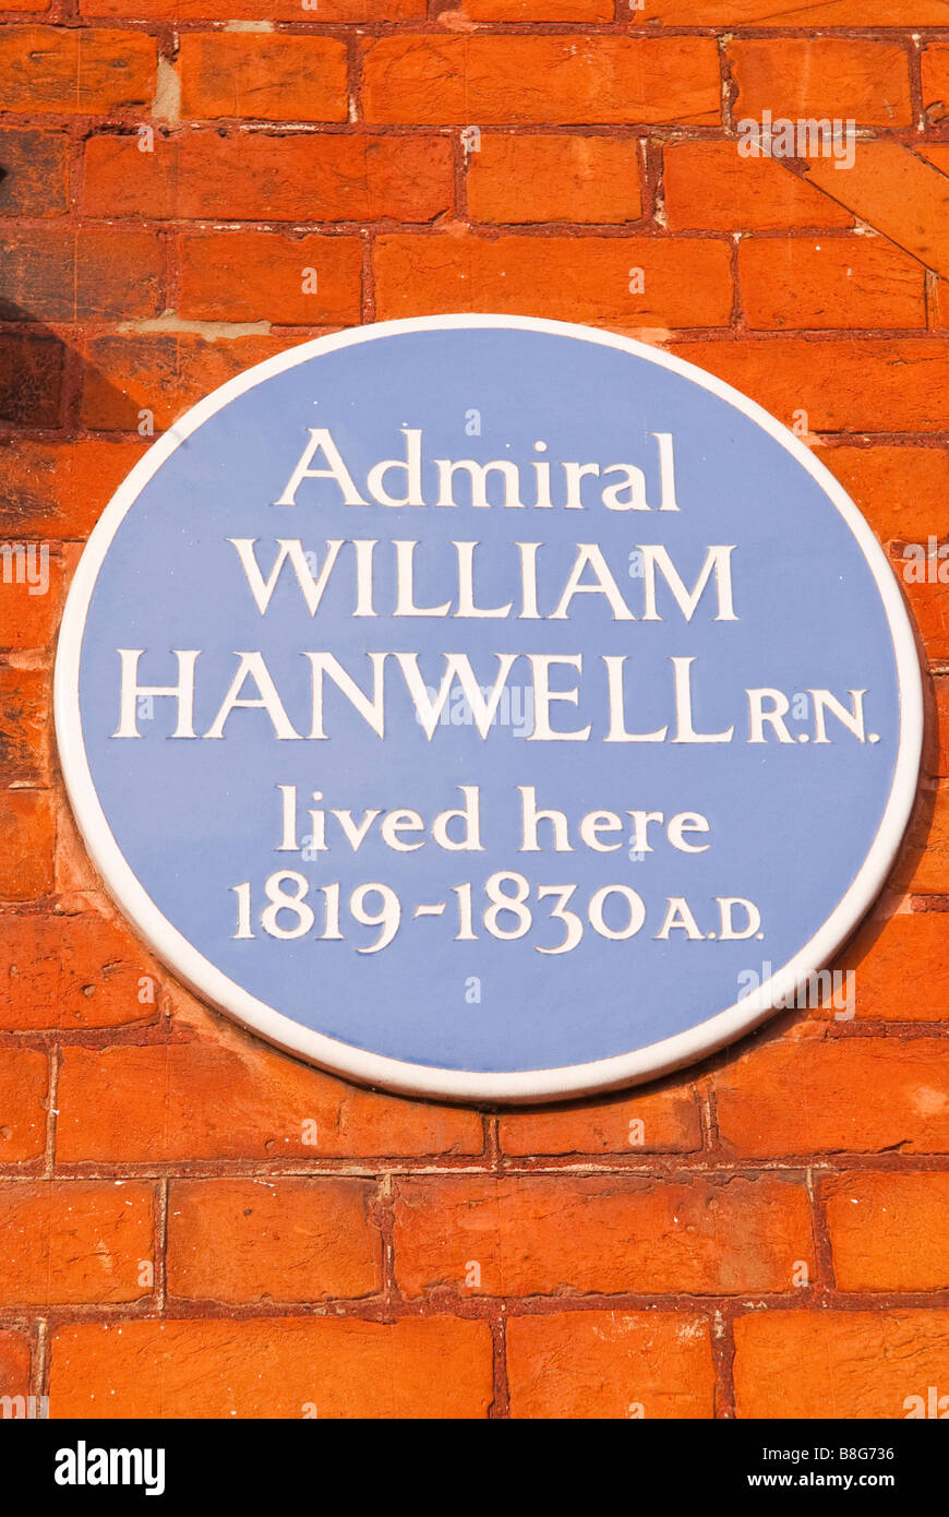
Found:
<svg viewBox="0 0 949 1517"><path fill-rule="evenodd" d="M208 396L76 573L89 854L199 995L356 1080L609 1089L787 1003L879 890L922 684L885 557L758 405L499 316Z"/></svg>

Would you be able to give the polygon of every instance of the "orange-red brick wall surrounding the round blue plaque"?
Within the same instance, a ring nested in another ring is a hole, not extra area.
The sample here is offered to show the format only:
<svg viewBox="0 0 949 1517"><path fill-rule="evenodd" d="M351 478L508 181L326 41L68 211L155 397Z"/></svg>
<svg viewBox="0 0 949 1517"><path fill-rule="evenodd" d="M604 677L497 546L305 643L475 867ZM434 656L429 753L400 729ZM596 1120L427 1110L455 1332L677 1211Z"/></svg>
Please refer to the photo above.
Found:
<svg viewBox="0 0 949 1517"><path fill-rule="evenodd" d="M853 118L853 167L738 156L763 109ZM136 1417L949 1394L949 584L905 586L929 740L838 960L853 1019L782 1013L564 1109L370 1094L200 1006L105 898L50 721L64 583L149 414L349 323L640 335L794 423L897 570L946 540L949 0L24 0L0 164L0 540L52 554L45 595L0 584L0 1390Z"/></svg>

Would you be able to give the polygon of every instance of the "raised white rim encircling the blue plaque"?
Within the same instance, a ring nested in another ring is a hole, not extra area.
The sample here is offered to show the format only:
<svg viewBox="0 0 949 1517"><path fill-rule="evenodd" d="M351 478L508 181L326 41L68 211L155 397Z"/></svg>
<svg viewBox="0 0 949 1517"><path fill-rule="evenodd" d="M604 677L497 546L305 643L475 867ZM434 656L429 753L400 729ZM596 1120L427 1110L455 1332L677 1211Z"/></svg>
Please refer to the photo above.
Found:
<svg viewBox="0 0 949 1517"><path fill-rule="evenodd" d="M283 1016L271 1006L250 995L217 969L159 912L118 848L96 793L96 786L92 784L82 739L82 716L79 710L82 639L99 570L115 531L143 487L199 426L223 410L223 407L229 405L230 400L235 400L264 379L285 373L288 369L308 363L320 353L330 353L340 347L350 347L355 343L371 343L400 332L458 331L470 328L512 328L550 332L556 337L572 337L585 343L599 343L603 347L615 347L661 369L669 369L684 379L690 379L693 384L716 394L720 400L732 405L737 411L741 411L752 422L756 422L763 431L781 443L806 469L825 495L829 496L857 539L876 581L890 623L900 702L899 751L893 786L879 831L849 890L825 925L805 944L794 959L760 986L756 992L744 997L728 1010L699 1022L688 1032L676 1033L673 1038L664 1038L635 1053L619 1054L612 1059L597 1059L591 1063L567 1065L556 1069L525 1069L511 1074L438 1069L428 1065L408 1063L400 1059L390 1059L382 1054L365 1053L350 1044L302 1027L293 1018ZM346 1076L364 1085L379 1085L406 1095L443 1097L452 1101L526 1103L565 1100L573 1095L609 1091L655 1079L682 1065L694 1063L763 1022L772 1015L776 1000L787 1000L794 995L797 988L832 957L879 894L910 819L922 755L923 686L913 625L882 548L834 476L797 437L776 422L775 417L769 416L756 402L749 400L731 385L705 373L705 370L696 369L694 364L675 358L661 349L647 347L644 343L637 343L632 338L619 337L612 332L600 332L573 322L549 322L528 316L426 316L400 322L379 322L374 326L335 332L330 337L320 337L299 347L291 347L274 358L267 358L246 373L229 379L218 390L214 390L149 449L146 457L139 460L112 496L79 561L67 598L56 648L55 715L59 758L67 790L92 863L121 912L132 921L150 948L197 995L211 1001L227 1015L235 1016L277 1048L302 1056L335 1074Z"/></svg>

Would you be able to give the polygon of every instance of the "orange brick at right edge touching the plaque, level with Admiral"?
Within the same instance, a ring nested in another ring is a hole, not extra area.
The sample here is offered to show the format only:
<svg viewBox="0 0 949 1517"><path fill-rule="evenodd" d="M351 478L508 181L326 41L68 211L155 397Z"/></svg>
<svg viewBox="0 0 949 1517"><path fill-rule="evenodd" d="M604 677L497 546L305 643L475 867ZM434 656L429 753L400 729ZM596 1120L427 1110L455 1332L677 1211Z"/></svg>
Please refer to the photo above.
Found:
<svg viewBox="0 0 949 1517"><path fill-rule="evenodd" d="M820 452L882 543L926 543L949 496L944 448L826 448Z"/></svg>

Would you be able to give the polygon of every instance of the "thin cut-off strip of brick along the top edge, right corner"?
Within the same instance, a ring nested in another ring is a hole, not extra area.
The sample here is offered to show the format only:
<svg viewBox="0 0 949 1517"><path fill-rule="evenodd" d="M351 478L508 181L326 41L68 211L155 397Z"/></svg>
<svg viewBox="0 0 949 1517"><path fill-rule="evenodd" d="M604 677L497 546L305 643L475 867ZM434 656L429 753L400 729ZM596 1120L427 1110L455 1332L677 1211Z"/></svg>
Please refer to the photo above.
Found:
<svg viewBox="0 0 949 1517"><path fill-rule="evenodd" d="M864 0L655 0L662 26L867 26ZM878 0L873 27L944 26L946 0Z"/></svg>

